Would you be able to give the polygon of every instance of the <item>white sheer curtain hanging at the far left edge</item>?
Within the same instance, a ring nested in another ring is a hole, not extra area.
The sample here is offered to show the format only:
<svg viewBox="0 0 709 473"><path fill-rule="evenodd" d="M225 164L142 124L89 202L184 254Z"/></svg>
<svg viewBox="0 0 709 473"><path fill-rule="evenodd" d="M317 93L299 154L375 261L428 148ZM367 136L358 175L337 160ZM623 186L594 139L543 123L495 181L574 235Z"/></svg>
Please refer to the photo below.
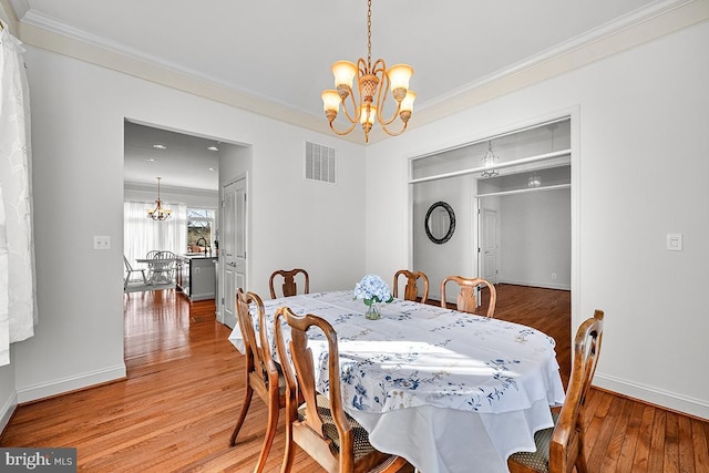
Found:
<svg viewBox="0 0 709 473"><path fill-rule="evenodd" d="M0 23L2 24L2 23ZM0 366L38 319L32 237L30 96L22 43L0 31Z"/></svg>

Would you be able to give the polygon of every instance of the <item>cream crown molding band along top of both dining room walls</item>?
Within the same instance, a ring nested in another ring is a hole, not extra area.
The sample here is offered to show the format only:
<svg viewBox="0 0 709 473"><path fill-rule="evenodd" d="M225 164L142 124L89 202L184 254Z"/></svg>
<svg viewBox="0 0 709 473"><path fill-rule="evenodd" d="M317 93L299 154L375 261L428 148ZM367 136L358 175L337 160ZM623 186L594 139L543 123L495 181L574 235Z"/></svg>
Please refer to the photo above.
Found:
<svg viewBox="0 0 709 473"><path fill-rule="evenodd" d="M0 0L10 7L9 0ZM21 1L21 0L14 0ZM10 7L10 10L11 7ZM9 17L17 17L14 11ZM662 0L620 17L534 58L472 82L420 106L409 122L415 128L454 113L548 80L645 42L709 19L707 0ZM29 11L17 23L19 39L30 45L144 79L175 90L243 109L314 132L330 134L327 120L260 95L238 90L197 71L179 68ZM370 143L389 136L372 130ZM340 136L363 144L363 135Z"/></svg>

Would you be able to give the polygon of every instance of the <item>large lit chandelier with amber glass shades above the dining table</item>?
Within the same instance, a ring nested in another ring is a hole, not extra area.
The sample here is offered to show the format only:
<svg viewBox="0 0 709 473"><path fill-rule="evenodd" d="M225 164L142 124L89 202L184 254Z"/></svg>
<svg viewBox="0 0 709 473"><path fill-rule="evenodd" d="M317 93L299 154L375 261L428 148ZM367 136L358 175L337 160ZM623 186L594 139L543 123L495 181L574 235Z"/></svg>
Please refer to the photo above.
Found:
<svg viewBox="0 0 709 473"><path fill-rule="evenodd" d="M332 64L335 88L322 92L325 115L330 122L330 130L338 135L350 133L357 123L362 124L364 141L369 142L369 132L376 120L381 128L390 136L398 136L407 130L413 101L417 94L409 90L409 80L413 69L408 64L395 64L387 69L383 59L378 59L372 65L372 2L367 1L367 61L360 58L357 65L350 61L337 61ZM352 91L352 80L357 75L357 97ZM389 90L397 101L397 111L390 119L382 116ZM351 97L351 113L347 99ZM342 104L342 110L350 122L345 131L339 131L332 123ZM392 132L388 126L399 116L401 130Z"/></svg>

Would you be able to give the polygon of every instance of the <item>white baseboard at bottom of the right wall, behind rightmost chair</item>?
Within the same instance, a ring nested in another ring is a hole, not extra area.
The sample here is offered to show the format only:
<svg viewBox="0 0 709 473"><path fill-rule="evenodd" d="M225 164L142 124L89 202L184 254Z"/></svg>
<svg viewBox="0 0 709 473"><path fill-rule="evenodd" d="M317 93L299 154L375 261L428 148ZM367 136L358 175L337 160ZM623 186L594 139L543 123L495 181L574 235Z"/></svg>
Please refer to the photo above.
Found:
<svg viewBox="0 0 709 473"><path fill-rule="evenodd" d="M621 380L599 372L596 372L594 377L594 385L660 408L686 413L702 420L709 420L709 403L700 399L679 395L674 392Z"/></svg>

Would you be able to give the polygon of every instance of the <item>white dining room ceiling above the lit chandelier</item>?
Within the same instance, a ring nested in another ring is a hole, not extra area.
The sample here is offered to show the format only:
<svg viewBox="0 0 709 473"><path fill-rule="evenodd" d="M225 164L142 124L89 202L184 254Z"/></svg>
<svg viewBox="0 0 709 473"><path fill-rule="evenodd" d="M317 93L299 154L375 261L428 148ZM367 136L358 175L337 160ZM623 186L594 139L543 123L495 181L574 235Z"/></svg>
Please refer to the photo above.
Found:
<svg viewBox="0 0 709 473"><path fill-rule="evenodd" d="M0 1L11 4L20 33L29 28L30 43L62 52L69 43L56 35L69 37L226 86L287 111L284 120L292 112L307 119L299 123L318 126L326 123L320 93L332 89L331 63L367 56L366 0ZM415 126L417 111L598 41L678 2L373 0L372 60L413 66ZM42 43L37 31L49 39ZM141 146L141 153L152 153L144 150L151 141L141 134L131 143L126 136L126 156ZM142 174L131 173L126 167L126 179Z"/></svg>

